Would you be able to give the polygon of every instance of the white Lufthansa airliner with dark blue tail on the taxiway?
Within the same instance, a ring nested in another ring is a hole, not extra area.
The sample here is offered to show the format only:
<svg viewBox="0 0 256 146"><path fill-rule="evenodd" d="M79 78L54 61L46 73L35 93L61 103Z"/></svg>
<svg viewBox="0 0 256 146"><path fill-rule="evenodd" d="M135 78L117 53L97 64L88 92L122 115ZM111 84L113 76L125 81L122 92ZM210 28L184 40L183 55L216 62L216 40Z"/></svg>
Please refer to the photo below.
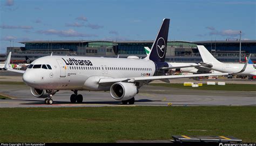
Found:
<svg viewBox="0 0 256 146"><path fill-rule="evenodd" d="M23 73L23 81L31 87L32 95L46 98L45 104L52 104L52 96L59 90L74 92L70 96L71 103L82 103L83 96L78 94L78 90L89 90L110 91L111 97L122 101L123 104L134 104L134 96L139 87L151 81L212 76L164 76L171 68L171 65L165 62L169 23L170 19L163 20L152 51L145 59L51 55L36 59L25 71L9 69L8 65L6 67L10 71Z"/></svg>

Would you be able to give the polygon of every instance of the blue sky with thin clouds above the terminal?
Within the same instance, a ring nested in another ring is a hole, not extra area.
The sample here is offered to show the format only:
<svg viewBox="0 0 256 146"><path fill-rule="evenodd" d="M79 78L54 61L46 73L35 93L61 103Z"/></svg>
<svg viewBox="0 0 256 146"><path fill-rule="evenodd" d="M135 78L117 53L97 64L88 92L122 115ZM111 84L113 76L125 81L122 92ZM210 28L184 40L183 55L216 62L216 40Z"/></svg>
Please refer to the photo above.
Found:
<svg viewBox="0 0 256 146"><path fill-rule="evenodd" d="M0 53L30 40L256 39L256 1L0 0Z"/></svg>

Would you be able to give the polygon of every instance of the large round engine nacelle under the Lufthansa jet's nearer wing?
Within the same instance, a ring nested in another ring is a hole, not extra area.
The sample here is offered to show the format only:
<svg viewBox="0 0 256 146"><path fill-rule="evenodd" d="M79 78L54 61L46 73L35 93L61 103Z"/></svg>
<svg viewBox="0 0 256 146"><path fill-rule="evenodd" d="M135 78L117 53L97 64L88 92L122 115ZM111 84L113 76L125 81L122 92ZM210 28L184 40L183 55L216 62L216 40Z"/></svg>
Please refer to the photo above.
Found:
<svg viewBox="0 0 256 146"><path fill-rule="evenodd" d="M129 100L137 93L138 89L132 83L117 82L110 87L110 94L116 100Z"/></svg>

